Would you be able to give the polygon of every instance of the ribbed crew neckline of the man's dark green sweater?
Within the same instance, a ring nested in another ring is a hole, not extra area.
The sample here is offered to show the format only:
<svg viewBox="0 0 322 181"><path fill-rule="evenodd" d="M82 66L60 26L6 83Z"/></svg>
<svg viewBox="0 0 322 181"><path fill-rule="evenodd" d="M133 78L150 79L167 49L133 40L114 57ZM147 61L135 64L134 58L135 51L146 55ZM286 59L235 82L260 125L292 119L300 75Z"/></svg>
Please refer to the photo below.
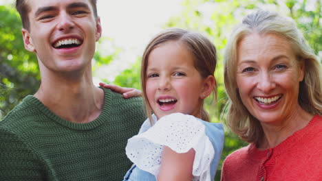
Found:
<svg viewBox="0 0 322 181"><path fill-rule="evenodd" d="M56 121L56 123L64 125L65 127L71 128L73 130L92 130L105 123L107 115L109 115L111 112L110 105L108 106L108 103L111 103L111 90L107 88L102 89L104 91L104 104L102 112L100 112L100 115L96 119L90 121L89 123L73 123L61 117L58 117L58 115L54 114L54 112L47 108L41 101L39 101L39 99L37 99L33 95L28 95L27 97L25 97L25 99L26 101L30 102L31 106L36 106L36 108L43 112L43 114L45 114L53 121Z"/></svg>

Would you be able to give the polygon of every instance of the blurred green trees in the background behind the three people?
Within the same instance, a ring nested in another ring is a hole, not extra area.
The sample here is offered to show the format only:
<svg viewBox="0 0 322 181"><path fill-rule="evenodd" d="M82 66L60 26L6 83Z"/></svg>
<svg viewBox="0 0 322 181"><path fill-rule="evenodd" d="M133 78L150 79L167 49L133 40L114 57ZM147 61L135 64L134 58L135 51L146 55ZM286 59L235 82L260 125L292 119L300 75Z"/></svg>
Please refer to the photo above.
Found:
<svg viewBox="0 0 322 181"><path fill-rule="evenodd" d="M227 101L223 82L222 53L231 29L249 12L263 8L292 17L321 61L321 0L185 0L182 2L182 6L183 10L180 16L171 17L164 28L182 27L201 32L208 36L217 47L219 62L215 77L217 79L218 101L216 104L211 99L206 99L206 109L210 112L214 122L224 123L220 112ZM25 95L35 93L40 84L40 76L36 56L24 49L21 22L17 12L10 6L2 5L0 6L0 17L0 119L2 119ZM112 40L102 38L98 47L103 41ZM121 53L117 47L114 49L115 51L109 55L98 49L93 60L94 75L99 67L109 64ZM122 71L113 82L109 82L107 79L103 79L103 81L119 86L140 88L140 59L140 57L136 58L136 62L131 65L131 68ZM235 149L247 145L228 128L225 130L222 160ZM215 180L220 178L222 160Z"/></svg>

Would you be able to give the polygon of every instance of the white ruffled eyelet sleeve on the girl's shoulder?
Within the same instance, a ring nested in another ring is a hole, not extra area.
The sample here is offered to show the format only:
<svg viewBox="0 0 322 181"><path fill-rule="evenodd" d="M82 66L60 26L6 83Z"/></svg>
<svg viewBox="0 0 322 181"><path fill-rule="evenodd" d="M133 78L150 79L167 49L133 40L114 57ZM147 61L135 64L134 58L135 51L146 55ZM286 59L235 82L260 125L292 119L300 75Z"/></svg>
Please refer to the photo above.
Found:
<svg viewBox="0 0 322 181"><path fill-rule="evenodd" d="M211 180L210 165L215 150L200 120L182 113L169 114L156 121L146 132L129 138L125 150L137 167L157 178L164 146L177 153L195 149L193 180Z"/></svg>

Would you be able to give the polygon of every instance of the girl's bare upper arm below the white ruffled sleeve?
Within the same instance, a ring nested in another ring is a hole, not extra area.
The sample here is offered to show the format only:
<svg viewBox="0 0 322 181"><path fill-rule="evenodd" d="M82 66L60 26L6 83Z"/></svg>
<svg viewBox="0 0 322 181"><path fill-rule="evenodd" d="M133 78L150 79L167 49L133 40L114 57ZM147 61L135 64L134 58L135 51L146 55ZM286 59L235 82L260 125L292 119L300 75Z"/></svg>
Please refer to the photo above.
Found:
<svg viewBox="0 0 322 181"><path fill-rule="evenodd" d="M165 146L162 153L161 167L158 181L189 180L193 178L193 160L195 159L195 149L189 152L178 154L171 148Z"/></svg>

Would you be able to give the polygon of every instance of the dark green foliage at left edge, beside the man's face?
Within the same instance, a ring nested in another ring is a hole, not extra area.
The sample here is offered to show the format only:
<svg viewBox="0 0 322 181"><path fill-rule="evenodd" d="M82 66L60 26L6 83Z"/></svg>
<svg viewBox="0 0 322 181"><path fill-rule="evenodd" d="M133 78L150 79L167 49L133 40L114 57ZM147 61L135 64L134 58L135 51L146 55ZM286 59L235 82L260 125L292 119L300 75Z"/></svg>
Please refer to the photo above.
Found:
<svg viewBox="0 0 322 181"><path fill-rule="evenodd" d="M0 6L0 119L25 95L39 86L39 69L33 53L25 51L19 14Z"/></svg>

